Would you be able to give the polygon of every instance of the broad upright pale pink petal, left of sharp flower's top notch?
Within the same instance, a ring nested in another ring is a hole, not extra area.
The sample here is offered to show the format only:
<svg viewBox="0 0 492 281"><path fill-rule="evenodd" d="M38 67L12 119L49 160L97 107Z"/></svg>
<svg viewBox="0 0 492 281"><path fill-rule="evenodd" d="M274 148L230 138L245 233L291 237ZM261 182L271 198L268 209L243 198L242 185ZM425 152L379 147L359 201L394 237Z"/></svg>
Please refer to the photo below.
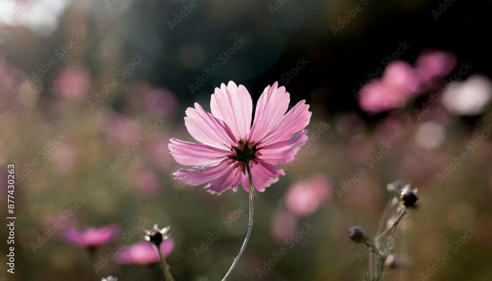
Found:
<svg viewBox="0 0 492 281"><path fill-rule="evenodd" d="M238 86L230 81L227 87L224 83L215 88L210 101L212 114L225 122L231 128L236 140L245 141L251 127L253 103L251 95L243 85Z"/></svg>

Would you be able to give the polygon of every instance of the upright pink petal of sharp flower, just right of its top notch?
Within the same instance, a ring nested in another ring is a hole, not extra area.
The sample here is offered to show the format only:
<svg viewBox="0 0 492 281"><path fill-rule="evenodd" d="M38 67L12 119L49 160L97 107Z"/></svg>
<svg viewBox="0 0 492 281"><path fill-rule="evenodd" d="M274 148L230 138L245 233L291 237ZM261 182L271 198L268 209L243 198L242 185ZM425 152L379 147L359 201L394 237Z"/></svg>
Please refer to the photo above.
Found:
<svg viewBox="0 0 492 281"><path fill-rule="evenodd" d="M275 82L265 88L256 104L253 126L249 132L249 142L256 144L269 133L289 109L290 95L285 87L277 88Z"/></svg>

